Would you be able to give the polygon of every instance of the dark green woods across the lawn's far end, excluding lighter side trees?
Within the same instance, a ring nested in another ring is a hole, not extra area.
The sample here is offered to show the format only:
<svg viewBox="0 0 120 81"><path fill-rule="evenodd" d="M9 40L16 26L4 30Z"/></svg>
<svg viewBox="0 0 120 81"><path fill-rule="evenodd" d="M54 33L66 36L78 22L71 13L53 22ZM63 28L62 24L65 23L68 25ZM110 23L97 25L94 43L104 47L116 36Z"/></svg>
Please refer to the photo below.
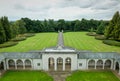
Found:
<svg viewBox="0 0 120 81"><path fill-rule="evenodd" d="M105 26L108 21L102 20L75 20L75 21L65 21L64 19L59 19L55 21L53 19L49 20L31 20L29 18L21 18L26 24L25 27L27 32L57 32L58 30L64 31L89 31L91 28L97 30L97 27L101 23Z"/></svg>

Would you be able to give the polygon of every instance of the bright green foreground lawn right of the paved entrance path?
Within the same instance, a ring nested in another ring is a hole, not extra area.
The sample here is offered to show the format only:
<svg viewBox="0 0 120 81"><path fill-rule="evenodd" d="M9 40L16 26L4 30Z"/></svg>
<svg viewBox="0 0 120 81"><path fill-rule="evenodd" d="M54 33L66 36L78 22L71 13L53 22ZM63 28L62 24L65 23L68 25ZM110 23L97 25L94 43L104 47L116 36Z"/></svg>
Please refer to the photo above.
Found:
<svg viewBox="0 0 120 81"><path fill-rule="evenodd" d="M120 81L111 71L77 71L66 81Z"/></svg>

